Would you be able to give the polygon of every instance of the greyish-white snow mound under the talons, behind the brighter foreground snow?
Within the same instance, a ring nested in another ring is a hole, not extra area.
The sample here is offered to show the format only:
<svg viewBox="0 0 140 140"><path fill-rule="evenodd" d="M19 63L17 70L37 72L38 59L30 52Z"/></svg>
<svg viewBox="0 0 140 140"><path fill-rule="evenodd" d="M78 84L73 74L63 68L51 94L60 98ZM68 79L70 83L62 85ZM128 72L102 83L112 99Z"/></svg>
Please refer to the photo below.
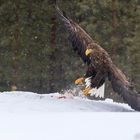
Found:
<svg viewBox="0 0 140 140"><path fill-rule="evenodd" d="M0 93L1 112L130 112L127 104L115 103L111 99L105 101L89 100L85 97L64 95L36 94L32 92Z"/></svg>

